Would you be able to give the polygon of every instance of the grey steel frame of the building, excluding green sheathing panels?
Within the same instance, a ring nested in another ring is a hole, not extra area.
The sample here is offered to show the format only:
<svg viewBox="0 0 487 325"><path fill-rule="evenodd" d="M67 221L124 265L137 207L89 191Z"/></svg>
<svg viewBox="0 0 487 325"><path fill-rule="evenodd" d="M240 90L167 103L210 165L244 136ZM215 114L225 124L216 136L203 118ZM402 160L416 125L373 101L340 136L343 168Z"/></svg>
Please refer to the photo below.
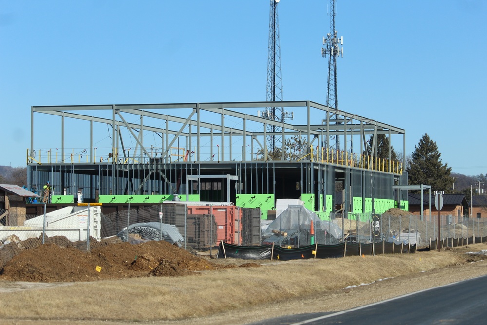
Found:
<svg viewBox="0 0 487 325"><path fill-rule="evenodd" d="M269 107L292 109L294 115L305 122L274 121L256 112ZM39 113L60 118L60 153L56 156L52 149L36 149L37 134L43 132L37 130L35 124ZM334 116L336 118L332 119ZM133 117L137 123L133 122ZM89 123L89 141L84 139L83 158L65 144L66 140L71 141L67 135L73 132L65 130L66 119ZM94 145L94 123L111 128L107 152L101 152L100 145ZM269 125L276 126L279 134L270 132ZM147 133L156 134L160 142L156 143L155 136L152 141ZM223 191L227 185L221 185L222 196L241 193L273 193L276 198L296 198L302 193L333 195L338 180L343 183L345 192L353 192L353 195L394 198L392 185L407 184L402 172L405 159L397 165L390 159L381 162L375 158L376 143L371 145L372 151L367 155L366 137L373 135L375 142L379 134L389 139L402 135L405 152L404 129L312 101L33 106L31 144L27 153L28 186L39 188L46 180L51 180L58 184L55 191L59 194L83 191L86 200L95 200L101 194L173 194L180 190L200 193L199 185L186 188L185 175L198 175L203 179L200 175L222 174L239 178L235 188L226 189L229 194ZM265 139L272 135L286 140L298 136L305 140L309 149L299 159L291 159L282 141L280 159L273 160L269 154L255 157L259 152L268 153ZM343 151L330 148L328 139L333 135L342 139ZM127 136L136 141L132 156L124 147ZM357 137L360 151L354 153L352 139ZM347 148L349 141L351 145ZM182 146L173 147L181 142ZM37 156L34 155L36 151ZM233 201L232 197L219 199ZM318 204L317 199L316 206Z"/></svg>

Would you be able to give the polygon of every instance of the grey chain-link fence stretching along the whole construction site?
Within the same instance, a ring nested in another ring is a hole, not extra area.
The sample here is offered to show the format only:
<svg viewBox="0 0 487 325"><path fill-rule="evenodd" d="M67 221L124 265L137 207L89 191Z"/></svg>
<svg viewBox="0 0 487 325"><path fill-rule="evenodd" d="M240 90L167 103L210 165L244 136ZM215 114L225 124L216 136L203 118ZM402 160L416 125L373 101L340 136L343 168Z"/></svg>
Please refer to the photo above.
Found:
<svg viewBox="0 0 487 325"><path fill-rule="evenodd" d="M0 210L0 267L22 249L53 243L90 250L97 243L141 243L164 240L182 249L217 252L219 243L237 246L273 245L300 248L313 244L412 244L427 247L438 232L444 246L480 242L487 236L482 219L450 216L373 215L348 213L347 218L318 216L302 206L276 210L272 220L261 220L258 208L233 205L165 203L127 206L101 212L100 206L66 207L40 216ZM375 223L374 223L375 222ZM13 226L16 225L16 226ZM466 240L458 240L460 238ZM349 246L352 247L352 246Z"/></svg>

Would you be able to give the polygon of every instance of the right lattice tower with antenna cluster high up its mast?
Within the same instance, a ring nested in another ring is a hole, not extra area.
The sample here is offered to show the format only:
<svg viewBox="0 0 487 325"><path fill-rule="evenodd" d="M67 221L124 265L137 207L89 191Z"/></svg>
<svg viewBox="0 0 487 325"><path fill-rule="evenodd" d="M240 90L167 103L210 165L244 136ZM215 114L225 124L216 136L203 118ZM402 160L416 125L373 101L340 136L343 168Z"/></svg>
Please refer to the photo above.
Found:
<svg viewBox="0 0 487 325"><path fill-rule="evenodd" d="M338 32L335 30L335 0L330 0L330 33L323 37L323 45L321 48L321 55L326 57L328 55L328 86L326 93L326 106L338 109L338 91L337 91L337 57L343 57L343 36L338 38ZM335 124L341 124L338 121L338 115L330 114L329 121L335 121ZM335 140L336 150L340 150L340 139L338 136L331 136L331 140ZM328 141L330 141L328 139ZM333 143L327 143L328 146Z"/></svg>

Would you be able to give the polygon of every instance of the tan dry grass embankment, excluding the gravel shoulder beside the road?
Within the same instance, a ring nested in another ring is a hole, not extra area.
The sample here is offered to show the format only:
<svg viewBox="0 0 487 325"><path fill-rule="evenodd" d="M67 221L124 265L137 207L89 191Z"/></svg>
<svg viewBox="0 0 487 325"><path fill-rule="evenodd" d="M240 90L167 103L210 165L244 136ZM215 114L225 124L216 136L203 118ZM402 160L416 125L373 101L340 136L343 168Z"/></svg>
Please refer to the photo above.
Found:
<svg viewBox="0 0 487 325"><path fill-rule="evenodd" d="M83 282L4 292L0 296L0 318L144 322L205 317L465 264L465 251L486 248L486 244L476 244L417 254L267 261L261 267L205 271L194 276Z"/></svg>

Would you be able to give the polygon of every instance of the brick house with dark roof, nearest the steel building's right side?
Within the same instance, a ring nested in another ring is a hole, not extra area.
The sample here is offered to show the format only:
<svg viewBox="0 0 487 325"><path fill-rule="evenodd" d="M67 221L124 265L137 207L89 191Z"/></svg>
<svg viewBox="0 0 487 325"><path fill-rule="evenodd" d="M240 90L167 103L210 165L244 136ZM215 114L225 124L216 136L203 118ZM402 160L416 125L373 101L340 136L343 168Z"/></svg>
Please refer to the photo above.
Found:
<svg viewBox="0 0 487 325"><path fill-rule="evenodd" d="M421 195L408 194L409 212L413 215L421 215ZM423 215L430 215L430 197L423 195ZM443 194L443 208L440 210L441 216L451 216L451 222L461 222L462 217L468 216L468 201L464 194ZM484 213L486 213L485 211ZM438 210L434 207L434 194L431 193L431 215L437 216ZM487 215L486 215L487 217Z"/></svg>

